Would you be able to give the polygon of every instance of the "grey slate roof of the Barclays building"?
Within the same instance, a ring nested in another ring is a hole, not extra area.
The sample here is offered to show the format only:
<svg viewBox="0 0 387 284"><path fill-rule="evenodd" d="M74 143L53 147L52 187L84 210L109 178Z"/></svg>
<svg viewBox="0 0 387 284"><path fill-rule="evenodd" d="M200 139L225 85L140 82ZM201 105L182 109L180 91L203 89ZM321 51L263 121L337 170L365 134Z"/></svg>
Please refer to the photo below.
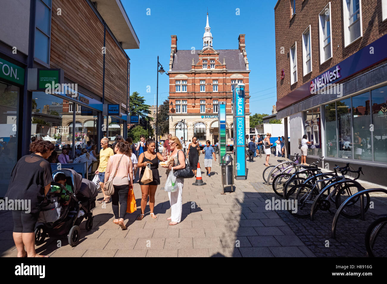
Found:
<svg viewBox="0 0 387 284"><path fill-rule="evenodd" d="M219 62L223 63L223 57L226 61L227 70L246 70L245 60L243 54L239 49L216 49L219 52ZM202 52L197 50L194 54L191 50L178 50L173 58L172 71L188 71L192 68L192 58L195 60L195 64L199 61L198 53Z"/></svg>

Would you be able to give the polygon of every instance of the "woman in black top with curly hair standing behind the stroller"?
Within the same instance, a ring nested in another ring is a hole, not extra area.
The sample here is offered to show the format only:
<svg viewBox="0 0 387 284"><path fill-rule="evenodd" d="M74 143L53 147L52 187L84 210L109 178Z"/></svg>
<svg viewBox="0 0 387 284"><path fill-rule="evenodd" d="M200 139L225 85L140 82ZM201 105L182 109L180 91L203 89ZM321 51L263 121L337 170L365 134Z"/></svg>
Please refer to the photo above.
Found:
<svg viewBox="0 0 387 284"><path fill-rule="evenodd" d="M12 170L8 200L31 201L21 210L14 208L14 241L17 257L44 257L35 252L35 224L39 217L39 206L44 200L52 181L50 163L47 159L55 146L50 141L36 139L29 146L31 155L23 156ZM29 208L27 208L29 207ZM24 250L24 246L26 250Z"/></svg>

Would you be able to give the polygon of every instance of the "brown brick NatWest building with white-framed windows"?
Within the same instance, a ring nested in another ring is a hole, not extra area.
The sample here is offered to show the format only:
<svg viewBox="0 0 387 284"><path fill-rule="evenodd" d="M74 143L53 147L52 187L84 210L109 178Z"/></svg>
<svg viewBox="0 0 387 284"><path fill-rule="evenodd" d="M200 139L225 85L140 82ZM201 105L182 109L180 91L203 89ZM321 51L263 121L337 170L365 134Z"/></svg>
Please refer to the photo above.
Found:
<svg viewBox="0 0 387 284"><path fill-rule="evenodd" d="M309 163L324 156L330 169L349 162L378 179L375 167L387 173L387 2L278 0L274 13L289 153L307 134Z"/></svg>

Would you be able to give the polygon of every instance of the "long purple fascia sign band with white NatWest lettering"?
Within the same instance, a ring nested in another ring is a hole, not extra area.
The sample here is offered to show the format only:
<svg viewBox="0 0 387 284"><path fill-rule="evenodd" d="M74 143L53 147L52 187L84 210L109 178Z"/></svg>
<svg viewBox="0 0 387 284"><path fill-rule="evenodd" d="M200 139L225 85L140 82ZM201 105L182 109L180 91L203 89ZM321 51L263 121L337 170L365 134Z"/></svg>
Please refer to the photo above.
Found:
<svg viewBox="0 0 387 284"><path fill-rule="evenodd" d="M311 95L311 90L313 89L324 87L326 84L340 82L369 66L385 60L387 58L386 46L387 34L352 54L338 65L333 66L321 75L308 81L293 92L290 92L282 99L277 100L277 111L309 97Z"/></svg>

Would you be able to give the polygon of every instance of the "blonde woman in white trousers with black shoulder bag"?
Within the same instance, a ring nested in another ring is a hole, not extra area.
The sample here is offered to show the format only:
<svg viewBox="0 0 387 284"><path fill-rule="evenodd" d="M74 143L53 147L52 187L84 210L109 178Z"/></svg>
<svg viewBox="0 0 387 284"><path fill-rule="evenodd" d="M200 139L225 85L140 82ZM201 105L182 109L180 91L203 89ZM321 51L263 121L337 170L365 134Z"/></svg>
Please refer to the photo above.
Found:
<svg viewBox="0 0 387 284"><path fill-rule="evenodd" d="M163 166L164 168L168 168L168 170L166 170L167 175L169 175L171 170L181 170L185 168L185 155L182 150L183 147L180 143L180 140L176 136L172 136L169 138L169 145L171 149L170 155L173 157L173 165L169 164L168 167ZM180 163L179 165L177 165L178 162ZM168 192L168 197L171 204L171 217L167 218L167 220L171 221L169 223L171 226L176 225L182 221L182 194L184 179L177 178L176 182L178 190L175 192Z"/></svg>

